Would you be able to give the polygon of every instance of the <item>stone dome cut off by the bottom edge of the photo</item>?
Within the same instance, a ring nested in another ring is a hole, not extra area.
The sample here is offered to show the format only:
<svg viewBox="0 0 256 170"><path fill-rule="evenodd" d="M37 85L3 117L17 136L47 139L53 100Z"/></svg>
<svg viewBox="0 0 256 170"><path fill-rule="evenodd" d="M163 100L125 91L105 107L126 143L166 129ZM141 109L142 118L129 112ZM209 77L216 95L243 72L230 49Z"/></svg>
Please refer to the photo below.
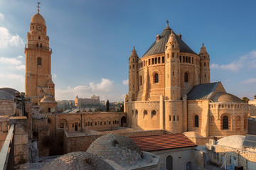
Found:
<svg viewBox="0 0 256 170"><path fill-rule="evenodd" d="M86 152L71 152L64 154L43 166L42 170L48 169L70 169L70 170L95 170L110 169L112 166L102 159Z"/></svg>

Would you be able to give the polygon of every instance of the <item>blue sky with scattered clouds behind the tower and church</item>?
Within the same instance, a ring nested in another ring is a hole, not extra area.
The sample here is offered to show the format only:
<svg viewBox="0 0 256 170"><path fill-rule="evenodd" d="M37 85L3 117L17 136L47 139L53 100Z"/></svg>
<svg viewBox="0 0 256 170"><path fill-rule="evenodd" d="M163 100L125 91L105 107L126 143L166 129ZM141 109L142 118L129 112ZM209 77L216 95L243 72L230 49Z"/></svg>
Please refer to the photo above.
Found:
<svg viewBox="0 0 256 170"><path fill-rule="evenodd" d="M0 87L24 91L24 45L37 1L0 0ZM55 99L123 101L128 58L139 57L166 27L195 52L210 55L210 80L226 91L256 94L256 1L41 1L50 47Z"/></svg>

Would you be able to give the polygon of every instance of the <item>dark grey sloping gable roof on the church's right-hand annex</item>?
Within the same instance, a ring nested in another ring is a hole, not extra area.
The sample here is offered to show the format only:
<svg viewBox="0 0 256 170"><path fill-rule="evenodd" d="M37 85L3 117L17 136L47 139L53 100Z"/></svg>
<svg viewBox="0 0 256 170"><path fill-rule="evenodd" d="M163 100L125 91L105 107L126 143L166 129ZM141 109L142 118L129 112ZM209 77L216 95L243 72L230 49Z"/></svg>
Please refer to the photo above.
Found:
<svg viewBox="0 0 256 170"><path fill-rule="evenodd" d="M188 92L188 100L210 99L218 84L220 84L220 81L193 86L191 91Z"/></svg>

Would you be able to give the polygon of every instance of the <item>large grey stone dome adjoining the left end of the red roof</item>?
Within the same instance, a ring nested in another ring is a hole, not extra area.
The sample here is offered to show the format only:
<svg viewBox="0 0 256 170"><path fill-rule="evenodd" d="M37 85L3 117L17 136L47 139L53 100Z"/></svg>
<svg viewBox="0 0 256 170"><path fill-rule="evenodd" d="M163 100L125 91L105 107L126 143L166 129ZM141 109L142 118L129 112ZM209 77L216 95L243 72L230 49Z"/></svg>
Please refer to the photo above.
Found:
<svg viewBox="0 0 256 170"><path fill-rule="evenodd" d="M132 139L112 133L98 137L86 152L120 165L142 159L142 152Z"/></svg>

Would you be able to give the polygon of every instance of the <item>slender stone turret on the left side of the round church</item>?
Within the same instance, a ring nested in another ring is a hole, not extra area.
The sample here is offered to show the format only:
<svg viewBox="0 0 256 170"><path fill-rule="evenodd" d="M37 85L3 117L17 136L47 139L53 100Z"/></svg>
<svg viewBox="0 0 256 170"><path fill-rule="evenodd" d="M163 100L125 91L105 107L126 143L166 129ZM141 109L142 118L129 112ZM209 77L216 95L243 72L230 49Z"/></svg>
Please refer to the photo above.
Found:
<svg viewBox="0 0 256 170"><path fill-rule="evenodd" d="M134 47L129 57L129 98L132 98L132 101L136 101L137 91L139 90L138 60L139 57Z"/></svg>

